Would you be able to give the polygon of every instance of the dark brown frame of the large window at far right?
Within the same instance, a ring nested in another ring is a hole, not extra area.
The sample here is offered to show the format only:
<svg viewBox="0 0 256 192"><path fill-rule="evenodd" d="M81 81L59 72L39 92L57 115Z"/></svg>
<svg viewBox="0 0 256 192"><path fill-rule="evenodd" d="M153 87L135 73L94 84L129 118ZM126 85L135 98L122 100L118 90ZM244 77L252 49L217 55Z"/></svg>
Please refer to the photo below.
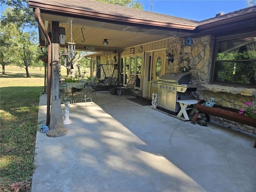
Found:
<svg viewBox="0 0 256 192"><path fill-rule="evenodd" d="M243 88L256 88L256 85L254 86L249 86L246 84L236 84L236 83L222 83L222 82L216 82L214 81L214 74L215 70L217 68L217 63L221 62L220 60L217 60L217 55L218 55L218 48L219 44L222 41L228 41L228 40L235 40L239 38L246 38L246 37L253 37L256 36L256 32L250 32L250 33L240 33L240 34L233 34L233 35L228 35L228 36L216 36L214 38L214 46L213 46L213 51L212 51L212 65L210 69L210 84L218 84L222 86L234 86L234 87L243 87ZM256 60L230 60L230 61L256 61Z"/></svg>

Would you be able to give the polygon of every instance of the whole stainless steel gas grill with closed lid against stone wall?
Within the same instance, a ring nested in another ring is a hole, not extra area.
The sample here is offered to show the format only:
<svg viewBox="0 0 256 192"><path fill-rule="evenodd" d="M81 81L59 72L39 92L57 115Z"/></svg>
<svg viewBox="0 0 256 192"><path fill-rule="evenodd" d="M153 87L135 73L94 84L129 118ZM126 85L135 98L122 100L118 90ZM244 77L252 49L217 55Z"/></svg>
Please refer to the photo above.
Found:
<svg viewBox="0 0 256 192"><path fill-rule="evenodd" d="M158 88L157 108L177 115L180 111L177 100L190 99L191 92L197 89L191 81L190 73L166 73L158 81L152 82Z"/></svg>

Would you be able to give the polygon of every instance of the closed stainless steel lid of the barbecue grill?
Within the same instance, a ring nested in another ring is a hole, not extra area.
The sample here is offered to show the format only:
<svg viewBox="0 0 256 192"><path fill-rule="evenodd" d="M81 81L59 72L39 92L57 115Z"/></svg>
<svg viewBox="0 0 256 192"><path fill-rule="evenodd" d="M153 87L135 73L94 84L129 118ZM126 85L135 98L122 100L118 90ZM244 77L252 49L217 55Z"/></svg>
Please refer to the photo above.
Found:
<svg viewBox="0 0 256 192"><path fill-rule="evenodd" d="M162 75L159 81L174 82L177 84L191 84L191 73L166 73Z"/></svg>

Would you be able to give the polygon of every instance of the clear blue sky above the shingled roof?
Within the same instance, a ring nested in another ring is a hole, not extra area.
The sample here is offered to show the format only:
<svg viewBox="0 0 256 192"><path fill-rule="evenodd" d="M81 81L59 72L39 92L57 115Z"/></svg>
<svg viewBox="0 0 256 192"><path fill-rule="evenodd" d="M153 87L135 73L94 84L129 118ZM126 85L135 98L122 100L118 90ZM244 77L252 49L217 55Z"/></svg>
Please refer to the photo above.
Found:
<svg viewBox="0 0 256 192"><path fill-rule="evenodd" d="M136 0L137 1L137 0ZM138 0L151 11L151 0ZM153 12L202 21L216 14L246 8L246 0L153 0Z"/></svg>

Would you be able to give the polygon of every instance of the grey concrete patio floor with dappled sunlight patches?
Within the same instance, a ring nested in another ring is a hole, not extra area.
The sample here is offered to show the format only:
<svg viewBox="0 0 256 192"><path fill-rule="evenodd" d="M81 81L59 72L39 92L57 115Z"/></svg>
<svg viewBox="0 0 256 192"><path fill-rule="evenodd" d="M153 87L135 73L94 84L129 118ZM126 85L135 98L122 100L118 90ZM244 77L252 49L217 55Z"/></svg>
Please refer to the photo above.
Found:
<svg viewBox="0 0 256 192"><path fill-rule="evenodd" d="M65 136L38 128L32 192L256 191L256 136L96 94L92 104L70 105ZM46 123L46 97L39 127Z"/></svg>

